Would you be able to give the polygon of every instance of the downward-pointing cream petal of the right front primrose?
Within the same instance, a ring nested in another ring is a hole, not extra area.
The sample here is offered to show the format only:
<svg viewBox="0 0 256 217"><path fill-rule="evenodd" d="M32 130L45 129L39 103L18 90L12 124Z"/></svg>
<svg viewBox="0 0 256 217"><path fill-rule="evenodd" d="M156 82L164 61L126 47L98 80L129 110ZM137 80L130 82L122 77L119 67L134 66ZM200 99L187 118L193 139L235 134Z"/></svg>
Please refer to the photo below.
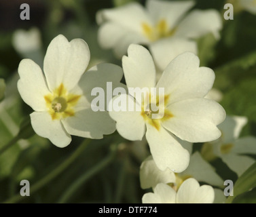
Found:
<svg viewBox="0 0 256 217"><path fill-rule="evenodd" d="M189 153L163 127L157 130L147 123L147 142L153 160L160 170L169 168L173 172L183 172L189 164Z"/></svg>

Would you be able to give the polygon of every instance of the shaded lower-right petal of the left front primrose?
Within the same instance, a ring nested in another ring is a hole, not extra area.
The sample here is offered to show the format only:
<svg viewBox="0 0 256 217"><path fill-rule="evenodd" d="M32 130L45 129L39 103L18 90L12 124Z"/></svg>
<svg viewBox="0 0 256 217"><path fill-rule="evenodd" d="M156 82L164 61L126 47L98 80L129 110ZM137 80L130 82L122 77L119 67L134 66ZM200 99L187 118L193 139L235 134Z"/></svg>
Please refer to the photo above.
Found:
<svg viewBox="0 0 256 217"><path fill-rule="evenodd" d="M85 138L100 139L115 132L115 121L109 113L91 108L76 111L75 116L62 119L62 123L69 134Z"/></svg>

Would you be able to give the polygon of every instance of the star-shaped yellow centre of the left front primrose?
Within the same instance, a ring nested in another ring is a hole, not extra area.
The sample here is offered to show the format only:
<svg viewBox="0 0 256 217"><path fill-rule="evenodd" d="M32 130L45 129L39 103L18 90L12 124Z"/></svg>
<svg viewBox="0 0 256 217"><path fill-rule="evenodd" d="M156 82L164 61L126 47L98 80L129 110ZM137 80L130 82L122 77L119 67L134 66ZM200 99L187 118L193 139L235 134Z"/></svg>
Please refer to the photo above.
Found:
<svg viewBox="0 0 256 217"><path fill-rule="evenodd" d="M45 95L45 103L52 120L74 116L73 107L80 97L80 95L69 94L62 83L52 94Z"/></svg>

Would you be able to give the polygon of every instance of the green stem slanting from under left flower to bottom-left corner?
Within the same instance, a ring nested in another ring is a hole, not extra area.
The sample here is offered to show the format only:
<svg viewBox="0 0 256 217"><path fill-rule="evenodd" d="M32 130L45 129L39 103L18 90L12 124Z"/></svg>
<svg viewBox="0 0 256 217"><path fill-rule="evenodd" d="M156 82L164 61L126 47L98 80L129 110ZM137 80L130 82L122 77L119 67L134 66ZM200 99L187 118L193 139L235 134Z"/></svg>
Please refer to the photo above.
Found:
<svg viewBox="0 0 256 217"><path fill-rule="evenodd" d="M56 167L55 170L52 170L48 175L46 175L44 178L36 182L30 189L31 195L41 189L43 186L54 180L59 174L61 174L64 170L83 153L84 149L86 149L86 146L90 143L90 140L85 140L80 146L75 150L75 152L64 162L62 162L58 167ZM7 201L4 201L3 203L17 203L18 201L21 201L25 197L22 197L20 194L15 195L14 197L7 199Z"/></svg>

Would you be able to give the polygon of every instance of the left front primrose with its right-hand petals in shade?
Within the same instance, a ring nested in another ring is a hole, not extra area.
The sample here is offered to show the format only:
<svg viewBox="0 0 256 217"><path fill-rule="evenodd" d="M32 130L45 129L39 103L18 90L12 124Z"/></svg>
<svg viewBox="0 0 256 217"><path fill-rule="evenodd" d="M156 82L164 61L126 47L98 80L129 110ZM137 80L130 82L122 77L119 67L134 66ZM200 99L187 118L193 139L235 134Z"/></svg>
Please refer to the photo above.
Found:
<svg viewBox="0 0 256 217"><path fill-rule="evenodd" d="M107 81L119 83L122 68L99 64L86 71L90 60L88 45L82 39L67 41L58 35L50 43L43 71L32 60L20 62L18 91L35 111L31 124L35 132L59 147L71 142L71 135L103 138L115 131L108 113L92 111L93 87L105 87Z"/></svg>

